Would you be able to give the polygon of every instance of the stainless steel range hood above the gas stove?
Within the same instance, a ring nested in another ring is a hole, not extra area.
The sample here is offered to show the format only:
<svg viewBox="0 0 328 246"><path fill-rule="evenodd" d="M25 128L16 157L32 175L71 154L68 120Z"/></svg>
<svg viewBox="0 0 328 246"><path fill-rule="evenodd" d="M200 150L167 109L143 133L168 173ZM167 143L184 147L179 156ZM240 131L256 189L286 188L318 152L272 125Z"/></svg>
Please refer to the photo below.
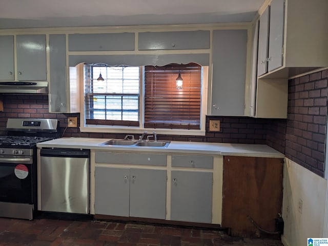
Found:
<svg viewBox="0 0 328 246"><path fill-rule="evenodd" d="M0 81L0 93L48 94L48 82Z"/></svg>

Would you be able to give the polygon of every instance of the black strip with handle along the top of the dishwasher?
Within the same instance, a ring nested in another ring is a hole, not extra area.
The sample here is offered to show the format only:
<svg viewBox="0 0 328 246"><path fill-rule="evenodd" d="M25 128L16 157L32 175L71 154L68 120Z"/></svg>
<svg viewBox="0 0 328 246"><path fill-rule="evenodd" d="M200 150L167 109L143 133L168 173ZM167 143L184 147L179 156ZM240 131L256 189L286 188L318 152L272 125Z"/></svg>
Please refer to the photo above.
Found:
<svg viewBox="0 0 328 246"><path fill-rule="evenodd" d="M90 150L80 149L41 149L40 156L89 158Z"/></svg>

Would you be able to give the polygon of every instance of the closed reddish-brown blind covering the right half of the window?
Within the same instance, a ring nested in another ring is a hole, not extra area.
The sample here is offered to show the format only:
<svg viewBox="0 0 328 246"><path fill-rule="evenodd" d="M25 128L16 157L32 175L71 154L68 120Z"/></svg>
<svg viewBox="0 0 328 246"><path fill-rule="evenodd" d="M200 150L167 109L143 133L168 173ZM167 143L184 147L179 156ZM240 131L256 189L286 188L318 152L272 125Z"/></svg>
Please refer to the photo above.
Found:
<svg viewBox="0 0 328 246"><path fill-rule="evenodd" d="M200 129L200 104L200 65L145 66L145 128Z"/></svg>

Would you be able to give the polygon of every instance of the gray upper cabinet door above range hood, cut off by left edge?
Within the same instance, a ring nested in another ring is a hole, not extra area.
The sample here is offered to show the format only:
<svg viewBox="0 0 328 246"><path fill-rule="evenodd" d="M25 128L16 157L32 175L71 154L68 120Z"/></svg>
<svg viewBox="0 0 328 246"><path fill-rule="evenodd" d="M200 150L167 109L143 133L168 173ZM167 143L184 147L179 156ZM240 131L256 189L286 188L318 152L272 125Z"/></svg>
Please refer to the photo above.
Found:
<svg viewBox="0 0 328 246"><path fill-rule="evenodd" d="M14 80L14 36L0 36L0 80Z"/></svg>

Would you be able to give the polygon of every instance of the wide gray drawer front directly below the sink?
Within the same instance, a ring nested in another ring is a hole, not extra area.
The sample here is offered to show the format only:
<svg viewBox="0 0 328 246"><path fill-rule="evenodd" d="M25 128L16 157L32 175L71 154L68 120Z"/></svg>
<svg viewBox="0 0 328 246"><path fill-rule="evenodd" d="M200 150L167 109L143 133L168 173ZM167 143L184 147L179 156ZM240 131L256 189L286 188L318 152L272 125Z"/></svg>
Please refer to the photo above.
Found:
<svg viewBox="0 0 328 246"><path fill-rule="evenodd" d="M96 163L166 166L167 155L96 151L95 161Z"/></svg>

